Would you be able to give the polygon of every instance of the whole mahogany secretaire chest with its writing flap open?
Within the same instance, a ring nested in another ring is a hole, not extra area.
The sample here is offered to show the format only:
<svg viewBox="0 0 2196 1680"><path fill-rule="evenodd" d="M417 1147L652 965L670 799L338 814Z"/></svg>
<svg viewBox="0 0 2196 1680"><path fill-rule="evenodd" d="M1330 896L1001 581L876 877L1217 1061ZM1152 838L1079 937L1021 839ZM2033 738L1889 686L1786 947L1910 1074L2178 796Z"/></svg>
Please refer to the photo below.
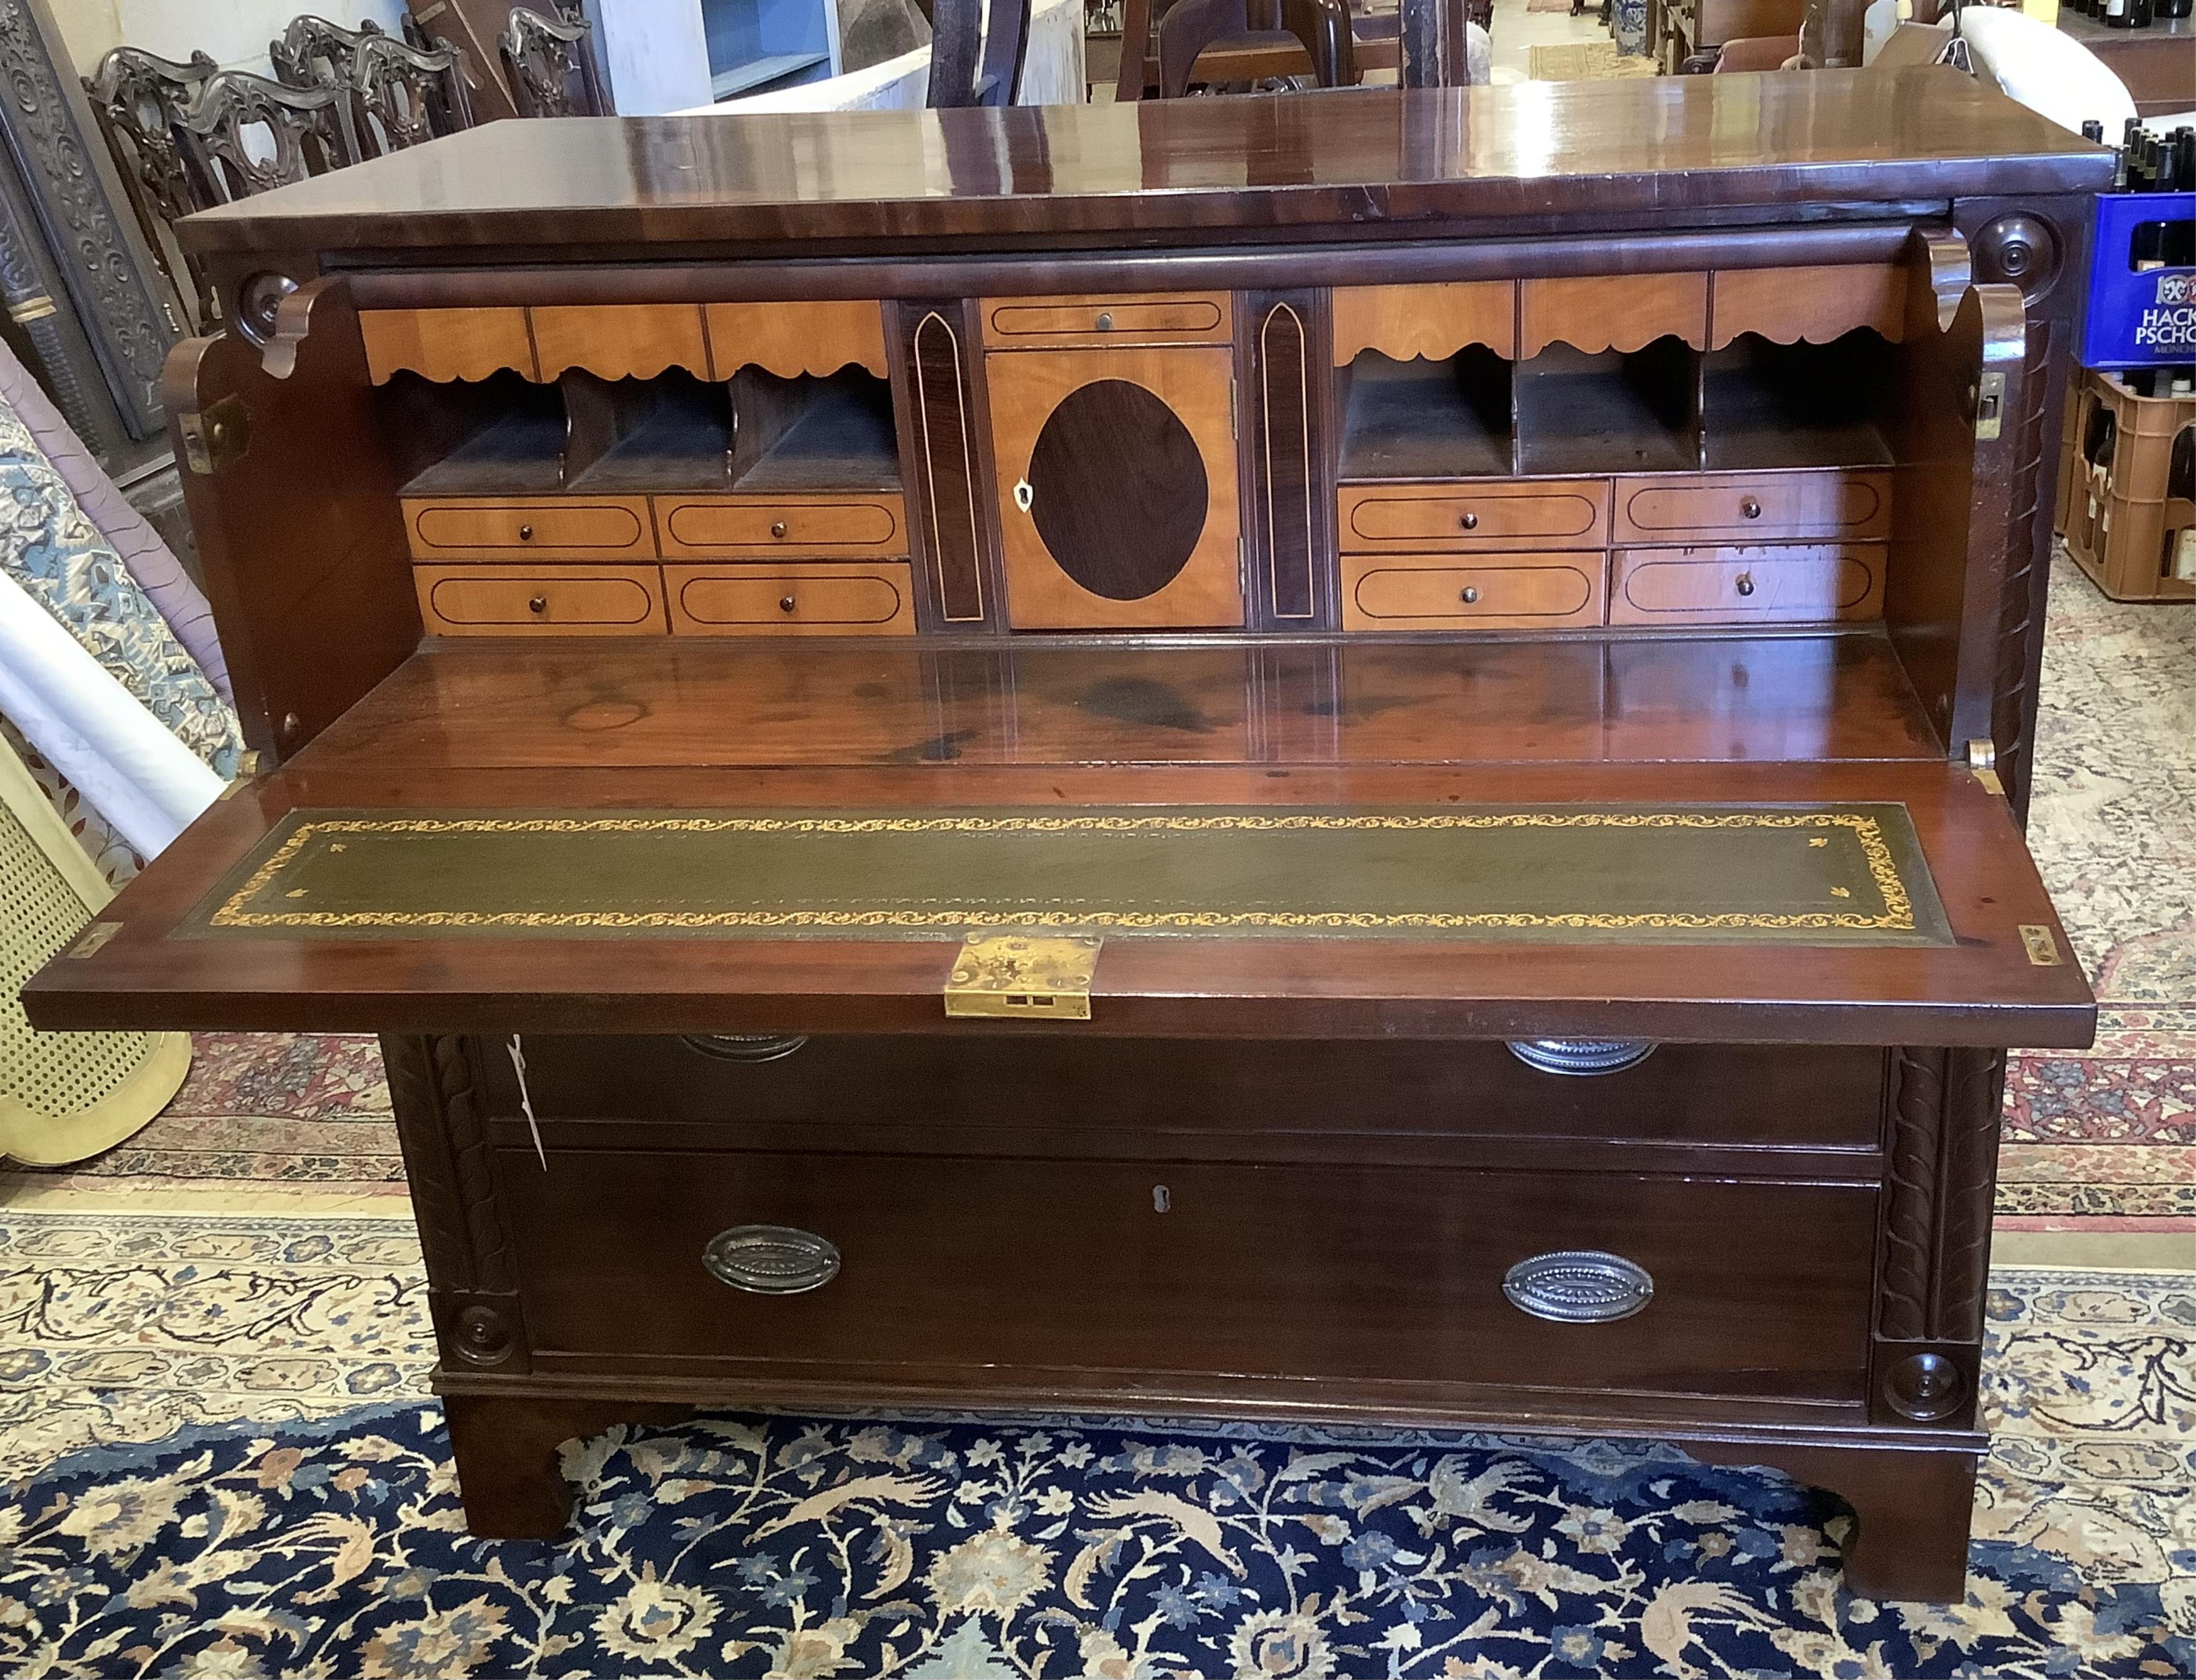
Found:
<svg viewBox="0 0 2196 1680"><path fill-rule="evenodd" d="M195 217L266 773L29 990L380 1032L479 1533L679 1405L1654 1434L1957 1597L2108 154L1952 70L498 123Z"/></svg>

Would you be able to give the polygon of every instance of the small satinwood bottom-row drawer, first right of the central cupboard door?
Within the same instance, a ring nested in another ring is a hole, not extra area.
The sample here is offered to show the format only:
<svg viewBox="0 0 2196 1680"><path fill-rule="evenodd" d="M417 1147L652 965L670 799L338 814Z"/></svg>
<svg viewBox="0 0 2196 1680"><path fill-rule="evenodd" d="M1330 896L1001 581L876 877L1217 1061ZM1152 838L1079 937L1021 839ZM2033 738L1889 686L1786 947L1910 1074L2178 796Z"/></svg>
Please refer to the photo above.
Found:
<svg viewBox="0 0 2196 1680"><path fill-rule="evenodd" d="M1344 630L1517 630L1601 624L1594 553L1348 553Z"/></svg>

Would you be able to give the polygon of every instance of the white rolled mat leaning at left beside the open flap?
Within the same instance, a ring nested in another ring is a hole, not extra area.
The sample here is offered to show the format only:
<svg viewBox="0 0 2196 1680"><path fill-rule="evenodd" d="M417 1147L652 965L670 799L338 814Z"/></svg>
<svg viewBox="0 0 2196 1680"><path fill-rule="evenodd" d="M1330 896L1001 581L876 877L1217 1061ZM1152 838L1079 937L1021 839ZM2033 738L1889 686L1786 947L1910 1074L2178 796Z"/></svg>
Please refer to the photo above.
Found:
<svg viewBox="0 0 2196 1680"><path fill-rule="evenodd" d="M147 859L222 791L222 777L4 573L0 712Z"/></svg>

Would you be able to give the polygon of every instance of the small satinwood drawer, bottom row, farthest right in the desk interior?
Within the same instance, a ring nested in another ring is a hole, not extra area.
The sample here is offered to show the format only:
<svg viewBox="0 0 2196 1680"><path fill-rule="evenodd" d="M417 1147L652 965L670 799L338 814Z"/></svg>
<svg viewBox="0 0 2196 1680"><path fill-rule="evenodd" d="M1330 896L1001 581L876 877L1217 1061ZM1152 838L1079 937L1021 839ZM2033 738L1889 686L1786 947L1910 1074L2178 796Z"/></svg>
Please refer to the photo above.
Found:
<svg viewBox="0 0 2196 1680"><path fill-rule="evenodd" d="M1618 549L1610 562L1610 624L1825 624L1882 611L1882 542Z"/></svg>

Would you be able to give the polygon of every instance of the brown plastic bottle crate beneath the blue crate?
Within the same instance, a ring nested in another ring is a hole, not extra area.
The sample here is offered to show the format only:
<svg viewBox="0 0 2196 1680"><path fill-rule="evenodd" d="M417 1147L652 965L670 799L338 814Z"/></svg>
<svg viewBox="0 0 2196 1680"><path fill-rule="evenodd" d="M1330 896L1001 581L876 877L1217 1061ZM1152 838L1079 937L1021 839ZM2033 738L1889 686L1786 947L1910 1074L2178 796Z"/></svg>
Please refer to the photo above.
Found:
<svg viewBox="0 0 2196 1680"><path fill-rule="evenodd" d="M2084 459L2099 408L2115 424L2110 470ZM2196 397L2139 397L2110 373L2082 371L2066 393L2058 529L2066 553L2115 602L2196 600L2196 578L2174 575L2196 503L2165 494L2174 439L2192 426Z"/></svg>

